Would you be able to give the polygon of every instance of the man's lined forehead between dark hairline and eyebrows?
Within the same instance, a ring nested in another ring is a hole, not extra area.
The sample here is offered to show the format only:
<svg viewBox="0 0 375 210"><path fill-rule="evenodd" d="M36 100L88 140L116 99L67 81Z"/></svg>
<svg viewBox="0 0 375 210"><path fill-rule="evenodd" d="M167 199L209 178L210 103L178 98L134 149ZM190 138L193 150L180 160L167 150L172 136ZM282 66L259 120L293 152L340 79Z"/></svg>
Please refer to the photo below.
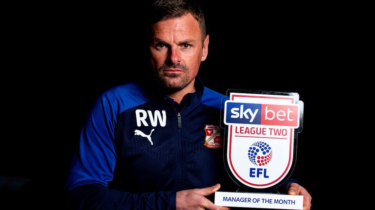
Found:
<svg viewBox="0 0 375 210"><path fill-rule="evenodd" d="M153 34L156 37L177 35L200 35L198 21L190 14L178 18L168 18L155 23L152 26Z"/></svg>

